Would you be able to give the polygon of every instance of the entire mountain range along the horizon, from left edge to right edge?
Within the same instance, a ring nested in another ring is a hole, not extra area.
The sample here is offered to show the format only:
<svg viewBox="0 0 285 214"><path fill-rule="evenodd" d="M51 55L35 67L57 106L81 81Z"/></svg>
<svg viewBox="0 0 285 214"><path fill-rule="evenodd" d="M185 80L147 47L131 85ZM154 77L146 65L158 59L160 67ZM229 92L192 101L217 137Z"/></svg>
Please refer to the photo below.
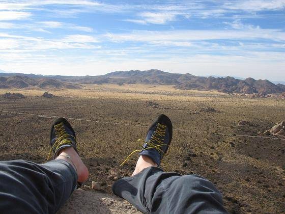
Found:
<svg viewBox="0 0 285 214"><path fill-rule="evenodd" d="M99 76L61 76L22 73L0 73L0 88L79 88L78 84L153 84L174 85L177 89L215 90L223 93L282 93L285 85L267 79L238 79L234 77L204 77L192 74L169 73L161 70L115 71Z"/></svg>

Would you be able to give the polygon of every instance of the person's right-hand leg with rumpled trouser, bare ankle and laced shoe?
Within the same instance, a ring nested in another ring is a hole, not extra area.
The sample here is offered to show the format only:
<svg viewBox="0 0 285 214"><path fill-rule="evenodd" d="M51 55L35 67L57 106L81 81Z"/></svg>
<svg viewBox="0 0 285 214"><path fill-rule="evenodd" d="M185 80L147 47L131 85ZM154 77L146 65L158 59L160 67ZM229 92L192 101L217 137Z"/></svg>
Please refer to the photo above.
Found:
<svg viewBox="0 0 285 214"><path fill-rule="evenodd" d="M116 181L113 193L144 213L226 213L221 194L210 181L158 167L171 139L171 121L160 115L148 130L133 176Z"/></svg>

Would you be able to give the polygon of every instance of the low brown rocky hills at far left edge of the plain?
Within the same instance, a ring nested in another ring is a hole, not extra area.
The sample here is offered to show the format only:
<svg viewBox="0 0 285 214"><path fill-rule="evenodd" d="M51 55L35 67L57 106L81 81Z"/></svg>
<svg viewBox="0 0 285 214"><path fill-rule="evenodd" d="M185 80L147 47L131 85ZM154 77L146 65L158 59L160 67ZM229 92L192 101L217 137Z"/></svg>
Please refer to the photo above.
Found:
<svg viewBox="0 0 285 214"><path fill-rule="evenodd" d="M79 89L80 86L73 83L66 83L51 78L37 78L37 77L28 77L23 75L15 76L0 76L0 88L57 88L57 89Z"/></svg>

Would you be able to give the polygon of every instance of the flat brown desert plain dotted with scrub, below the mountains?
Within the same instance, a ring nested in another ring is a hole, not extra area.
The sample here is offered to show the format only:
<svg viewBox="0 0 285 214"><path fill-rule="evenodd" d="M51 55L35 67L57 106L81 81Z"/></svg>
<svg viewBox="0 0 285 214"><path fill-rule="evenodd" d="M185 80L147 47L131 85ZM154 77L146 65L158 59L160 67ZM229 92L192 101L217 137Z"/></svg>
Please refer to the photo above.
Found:
<svg viewBox="0 0 285 214"><path fill-rule="evenodd" d="M260 135L285 120L285 101L172 86L84 85L82 89L0 89L25 98L0 98L0 160L44 163L50 124L67 117L92 181L111 194L110 175L130 176L148 125L158 114L174 133L162 168L211 180L230 213L285 212L285 140ZM240 121L248 123L239 126ZM93 191L93 190L88 190Z"/></svg>

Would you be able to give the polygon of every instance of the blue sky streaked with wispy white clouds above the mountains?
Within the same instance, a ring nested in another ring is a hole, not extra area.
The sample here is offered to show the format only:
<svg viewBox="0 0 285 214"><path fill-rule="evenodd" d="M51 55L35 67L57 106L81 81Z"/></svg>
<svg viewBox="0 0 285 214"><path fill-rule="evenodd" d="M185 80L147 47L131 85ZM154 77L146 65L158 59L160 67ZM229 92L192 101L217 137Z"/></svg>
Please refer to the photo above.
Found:
<svg viewBox="0 0 285 214"><path fill-rule="evenodd" d="M0 0L0 70L285 81L285 0Z"/></svg>

